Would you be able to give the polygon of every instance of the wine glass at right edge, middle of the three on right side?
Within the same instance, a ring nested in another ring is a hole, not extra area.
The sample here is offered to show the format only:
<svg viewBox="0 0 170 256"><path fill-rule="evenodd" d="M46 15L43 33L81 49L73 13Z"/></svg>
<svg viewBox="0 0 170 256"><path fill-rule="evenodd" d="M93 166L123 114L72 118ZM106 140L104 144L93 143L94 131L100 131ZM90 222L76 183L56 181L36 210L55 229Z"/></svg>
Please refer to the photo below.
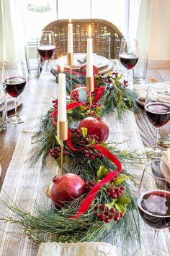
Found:
<svg viewBox="0 0 170 256"><path fill-rule="evenodd" d="M153 82L148 86L145 112L148 121L156 127L156 144L154 148L146 148L146 153L153 158L160 158L162 153L158 146L159 128L170 119L169 82Z"/></svg>

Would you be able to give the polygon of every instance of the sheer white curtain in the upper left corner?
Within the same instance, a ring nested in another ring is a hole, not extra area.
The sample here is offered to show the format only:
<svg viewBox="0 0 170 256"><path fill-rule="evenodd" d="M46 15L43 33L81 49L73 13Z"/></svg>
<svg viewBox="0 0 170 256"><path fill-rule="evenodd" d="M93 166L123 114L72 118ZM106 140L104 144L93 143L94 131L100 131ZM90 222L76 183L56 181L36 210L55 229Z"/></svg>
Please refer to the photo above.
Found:
<svg viewBox="0 0 170 256"><path fill-rule="evenodd" d="M22 0L0 0L0 60L24 60L24 11Z"/></svg>

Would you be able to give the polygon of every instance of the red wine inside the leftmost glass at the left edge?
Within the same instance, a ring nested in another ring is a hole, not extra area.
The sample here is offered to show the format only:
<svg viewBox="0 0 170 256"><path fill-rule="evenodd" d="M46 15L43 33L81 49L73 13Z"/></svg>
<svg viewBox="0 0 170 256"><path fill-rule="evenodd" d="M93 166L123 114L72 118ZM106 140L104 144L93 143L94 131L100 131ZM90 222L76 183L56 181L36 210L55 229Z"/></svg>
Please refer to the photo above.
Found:
<svg viewBox="0 0 170 256"><path fill-rule="evenodd" d="M24 77L6 77L3 83L6 85L6 92L17 98L24 90L26 79Z"/></svg>

